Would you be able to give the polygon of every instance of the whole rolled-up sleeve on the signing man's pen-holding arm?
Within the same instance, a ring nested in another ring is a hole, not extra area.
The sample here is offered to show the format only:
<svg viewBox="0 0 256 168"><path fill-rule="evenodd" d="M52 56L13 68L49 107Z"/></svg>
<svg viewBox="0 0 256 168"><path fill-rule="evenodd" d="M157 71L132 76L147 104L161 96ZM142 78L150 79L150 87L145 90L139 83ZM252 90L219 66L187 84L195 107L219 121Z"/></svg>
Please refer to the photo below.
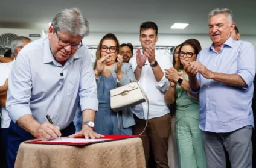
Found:
<svg viewBox="0 0 256 168"><path fill-rule="evenodd" d="M17 120L26 115L32 114L30 110L31 97L31 71L27 55L19 52L9 77L6 107L11 120Z"/></svg>

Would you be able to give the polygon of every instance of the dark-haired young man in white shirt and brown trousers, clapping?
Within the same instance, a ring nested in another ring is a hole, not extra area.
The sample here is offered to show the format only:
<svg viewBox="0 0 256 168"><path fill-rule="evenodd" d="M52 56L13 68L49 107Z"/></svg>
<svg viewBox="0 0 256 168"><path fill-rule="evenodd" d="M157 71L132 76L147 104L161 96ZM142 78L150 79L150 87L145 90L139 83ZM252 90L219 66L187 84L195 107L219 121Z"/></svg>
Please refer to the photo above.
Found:
<svg viewBox="0 0 256 168"><path fill-rule="evenodd" d="M133 134L140 134L149 122L142 138L146 167L150 157L150 151L156 167L168 166L168 137L171 131L171 115L164 101L164 93L170 86L170 82L164 76L164 69L172 66L171 55L161 55L155 45L158 41L158 26L154 22L144 22L140 27L139 40L142 50L139 48L136 55L130 59L135 78L141 83L142 88L149 98L149 115L147 102L136 105L132 110L135 114L136 125L133 126ZM148 117L149 116L149 117Z"/></svg>

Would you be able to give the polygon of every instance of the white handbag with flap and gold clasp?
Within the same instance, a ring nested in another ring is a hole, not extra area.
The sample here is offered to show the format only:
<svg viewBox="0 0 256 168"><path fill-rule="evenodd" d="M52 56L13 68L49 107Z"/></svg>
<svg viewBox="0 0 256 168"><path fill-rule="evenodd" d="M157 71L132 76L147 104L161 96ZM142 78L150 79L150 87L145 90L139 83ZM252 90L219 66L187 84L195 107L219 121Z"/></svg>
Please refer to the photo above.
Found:
<svg viewBox="0 0 256 168"><path fill-rule="evenodd" d="M146 102L147 96L138 81L110 90L110 107L114 111Z"/></svg>

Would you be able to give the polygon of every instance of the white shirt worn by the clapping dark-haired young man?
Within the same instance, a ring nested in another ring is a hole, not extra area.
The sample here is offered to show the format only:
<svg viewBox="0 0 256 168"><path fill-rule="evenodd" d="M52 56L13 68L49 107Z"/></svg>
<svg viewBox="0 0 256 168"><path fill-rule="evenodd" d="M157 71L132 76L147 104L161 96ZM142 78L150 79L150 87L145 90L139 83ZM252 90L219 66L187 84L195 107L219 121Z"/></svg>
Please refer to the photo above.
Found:
<svg viewBox="0 0 256 168"><path fill-rule="evenodd" d="M164 69L173 67L171 55L159 55L158 51L155 51L155 55L156 61L158 61L163 72ZM136 54L130 58L129 63L132 64L134 72L137 67ZM167 104L164 101L164 94L170 86L170 82L165 78L165 76L162 77L161 81L157 82L152 67L147 60L145 66L142 67L139 82L145 91L147 98L149 98L149 119L161 117L170 113ZM142 105L136 105L132 110L139 119L147 119L147 102L142 103Z"/></svg>

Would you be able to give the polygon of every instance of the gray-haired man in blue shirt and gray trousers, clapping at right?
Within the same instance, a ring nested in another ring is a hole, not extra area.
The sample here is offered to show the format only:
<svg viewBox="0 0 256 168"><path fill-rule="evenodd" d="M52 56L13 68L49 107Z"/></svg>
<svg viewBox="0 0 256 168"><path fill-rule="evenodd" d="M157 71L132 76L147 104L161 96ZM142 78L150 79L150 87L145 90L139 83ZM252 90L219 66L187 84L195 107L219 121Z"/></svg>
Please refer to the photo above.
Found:
<svg viewBox="0 0 256 168"><path fill-rule="evenodd" d="M217 8L208 15L210 48L185 65L191 91L199 92L200 123L208 168L252 167L251 135L254 46L235 41L232 11Z"/></svg>

